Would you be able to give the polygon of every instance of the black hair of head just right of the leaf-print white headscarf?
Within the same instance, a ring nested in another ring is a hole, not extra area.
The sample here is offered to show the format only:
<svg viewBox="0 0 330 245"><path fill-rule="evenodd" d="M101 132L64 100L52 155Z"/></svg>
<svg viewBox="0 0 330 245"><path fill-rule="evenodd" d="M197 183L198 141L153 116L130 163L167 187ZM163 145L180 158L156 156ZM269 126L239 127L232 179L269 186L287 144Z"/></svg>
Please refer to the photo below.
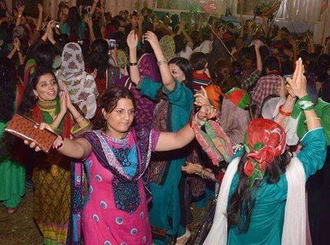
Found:
<svg viewBox="0 0 330 245"><path fill-rule="evenodd" d="M108 67L108 51L109 45L102 38L95 39L90 45L87 67L92 71L97 69L98 77L102 77Z"/></svg>

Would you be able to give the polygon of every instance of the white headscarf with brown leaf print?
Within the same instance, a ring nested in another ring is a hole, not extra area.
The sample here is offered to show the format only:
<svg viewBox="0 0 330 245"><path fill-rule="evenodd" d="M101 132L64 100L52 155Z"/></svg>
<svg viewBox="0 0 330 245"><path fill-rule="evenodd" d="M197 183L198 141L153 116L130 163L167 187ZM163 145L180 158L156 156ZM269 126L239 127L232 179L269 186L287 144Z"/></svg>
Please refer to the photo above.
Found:
<svg viewBox="0 0 330 245"><path fill-rule="evenodd" d="M64 46L61 68L55 72L55 76L67 85L72 102L85 113L85 117L93 118L99 93L94 77L85 72L83 53L77 43Z"/></svg>

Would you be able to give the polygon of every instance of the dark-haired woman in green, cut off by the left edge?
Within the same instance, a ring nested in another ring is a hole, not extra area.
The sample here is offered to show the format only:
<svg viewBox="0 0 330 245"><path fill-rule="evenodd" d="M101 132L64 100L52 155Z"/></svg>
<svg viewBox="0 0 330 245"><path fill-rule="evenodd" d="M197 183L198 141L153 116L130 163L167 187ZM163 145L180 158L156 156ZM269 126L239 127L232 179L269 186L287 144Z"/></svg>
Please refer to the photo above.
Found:
<svg viewBox="0 0 330 245"><path fill-rule="evenodd" d="M4 136L4 127L13 116L15 104L20 97L20 85L17 83L16 69L11 59L0 58L0 137ZM1 140L4 144L6 141ZM6 146L1 146L4 150ZM9 146L8 146L9 148ZM12 149L10 149L12 150ZM22 152L20 153L22 154ZM25 167L16 160L0 153L0 202L13 213L25 194Z"/></svg>

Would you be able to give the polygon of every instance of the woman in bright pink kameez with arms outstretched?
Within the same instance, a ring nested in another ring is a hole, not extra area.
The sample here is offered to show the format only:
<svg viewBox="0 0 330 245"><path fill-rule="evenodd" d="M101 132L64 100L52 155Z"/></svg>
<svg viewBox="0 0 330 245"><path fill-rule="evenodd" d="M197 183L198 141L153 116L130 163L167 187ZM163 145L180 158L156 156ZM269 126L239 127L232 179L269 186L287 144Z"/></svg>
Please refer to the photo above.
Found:
<svg viewBox="0 0 330 245"><path fill-rule="evenodd" d="M177 132L159 132L149 127L131 127L135 100L124 87L111 85L99 97L102 119L99 130L78 139L57 137L60 153L78 159L73 165L69 244L151 244L145 172L151 151L172 151L186 146L195 134L190 125ZM215 116L205 106L198 120ZM195 123L193 118L191 123ZM41 125L41 129L46 124ZM34 143L30 146L36 147ZM36 151L40 150L36 147ZM83 165L85 174L83 173ZM84 181L88 183L85 197ZM82 232L81 232L82 227ZM82 235L83 234L83 235Z"/></svg>

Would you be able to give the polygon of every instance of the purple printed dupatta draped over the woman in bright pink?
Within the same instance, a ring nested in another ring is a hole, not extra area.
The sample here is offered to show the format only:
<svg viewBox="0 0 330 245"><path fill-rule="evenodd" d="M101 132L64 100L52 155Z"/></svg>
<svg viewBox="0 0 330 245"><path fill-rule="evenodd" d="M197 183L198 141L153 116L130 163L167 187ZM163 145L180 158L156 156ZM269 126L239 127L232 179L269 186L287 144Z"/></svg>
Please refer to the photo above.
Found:
<svg viewBox="0 0 330 245"><path fill-rule="evenodd" d="M151 157L151 130L148 128L140 128L139 130L133 130L135 144L137 146L137 158L138 165L137 171L133 176L128 176L123 171L123 167L114 157L114 153L109 151L103 151L106 147L102 146L105 141L105 135L102 135L99 131L85 132L82 137L87 139L92 145L92 151L95 153L100 165L109 170L111 174L114 174L121 181L137 181L142 178L142 175L148 167ZM80 245L83 244L83 232L81 217L83 213L83 206L88 200L88 192L84 189L85 183L83 181L84 167L88 169L90 162L84 160L83 162L71 163L71 211L69 216L69 228L67 235L68 245ZM88 172L85 175L87 186L89 188ZM144 184L146 180L144 180ZM87 194L86 194L87 193ZM148 194L148 193L147 193Z"/></svg>

